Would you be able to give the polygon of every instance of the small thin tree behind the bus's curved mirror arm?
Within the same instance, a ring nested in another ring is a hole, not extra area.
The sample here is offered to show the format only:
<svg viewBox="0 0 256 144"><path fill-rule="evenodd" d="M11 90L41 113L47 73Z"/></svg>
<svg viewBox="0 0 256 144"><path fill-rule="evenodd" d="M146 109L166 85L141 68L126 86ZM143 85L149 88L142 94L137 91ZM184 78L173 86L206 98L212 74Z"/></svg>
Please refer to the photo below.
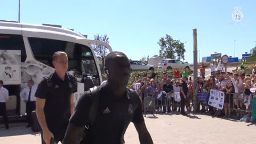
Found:
<svg viewBox="0 0 256 144"><path fill-rule="evenodd" d="M102 41L102 42L109 44L109 38L107 35L104 35L104 36L102 36L102 35L100 36L99 34L94 35L94 40ZM106 58L107 54L109 53L109 50L104 45L92 45L92 48L93 48L93 51L95 52L95 54L97 55L97 57L100 58L101 70L103 70L103 68L105 67L105 58Z"/></svg>

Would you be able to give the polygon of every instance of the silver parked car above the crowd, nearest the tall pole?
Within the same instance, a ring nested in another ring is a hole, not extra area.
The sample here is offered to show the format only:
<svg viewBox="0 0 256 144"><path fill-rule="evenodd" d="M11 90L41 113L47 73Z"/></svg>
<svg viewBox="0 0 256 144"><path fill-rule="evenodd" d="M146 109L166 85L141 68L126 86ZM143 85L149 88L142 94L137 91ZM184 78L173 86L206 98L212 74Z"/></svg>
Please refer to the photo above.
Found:
<svg viewBox="0 0 256 144"><path fill-rule="evenodd" d="M184 63L180 60L174 60L174 59L165 59L158 63L158 69L174 69L174 68L190 69L190 65L188 63Z"/></svg>

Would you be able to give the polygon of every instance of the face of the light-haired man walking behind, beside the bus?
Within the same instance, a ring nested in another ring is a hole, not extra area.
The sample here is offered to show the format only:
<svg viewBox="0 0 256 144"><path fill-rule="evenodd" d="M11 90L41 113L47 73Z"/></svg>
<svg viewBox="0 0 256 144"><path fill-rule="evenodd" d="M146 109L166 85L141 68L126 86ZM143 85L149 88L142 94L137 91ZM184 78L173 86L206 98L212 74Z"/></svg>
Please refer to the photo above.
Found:
<svg viewBox="0 0 256 144"><path fill-rule="evenodd" d="M66 73L68 70L68 57L65 54L59 55L56 61L53 61L53 66L56 71L63 71Z"/></svg>

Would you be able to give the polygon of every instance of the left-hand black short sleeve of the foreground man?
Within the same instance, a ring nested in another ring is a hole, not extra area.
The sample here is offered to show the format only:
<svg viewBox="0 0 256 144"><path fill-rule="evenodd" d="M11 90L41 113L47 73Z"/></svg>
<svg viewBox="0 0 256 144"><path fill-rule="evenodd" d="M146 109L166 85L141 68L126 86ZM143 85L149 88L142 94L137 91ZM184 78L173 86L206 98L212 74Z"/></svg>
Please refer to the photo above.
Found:
<svg viewBox="0 0 256 144"><path fill-rule="evenodd" d="M83 127L89 122L89 111L92 103L90 92L84 92L77 101L75 113L71 116L70 122L75 126Z"/></svg>

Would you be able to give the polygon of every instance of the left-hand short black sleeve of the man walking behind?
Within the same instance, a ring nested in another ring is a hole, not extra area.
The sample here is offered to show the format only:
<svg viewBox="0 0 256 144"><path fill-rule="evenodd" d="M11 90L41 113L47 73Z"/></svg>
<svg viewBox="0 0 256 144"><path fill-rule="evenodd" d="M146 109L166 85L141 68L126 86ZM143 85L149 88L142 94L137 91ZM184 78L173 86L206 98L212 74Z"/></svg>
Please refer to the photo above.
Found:
<svg viewBox="0 0 256 144"><path fill-rule="evenodd" d="M45 78L38 84L35 97L46 99L49 97L49 87Z"/></svg>

